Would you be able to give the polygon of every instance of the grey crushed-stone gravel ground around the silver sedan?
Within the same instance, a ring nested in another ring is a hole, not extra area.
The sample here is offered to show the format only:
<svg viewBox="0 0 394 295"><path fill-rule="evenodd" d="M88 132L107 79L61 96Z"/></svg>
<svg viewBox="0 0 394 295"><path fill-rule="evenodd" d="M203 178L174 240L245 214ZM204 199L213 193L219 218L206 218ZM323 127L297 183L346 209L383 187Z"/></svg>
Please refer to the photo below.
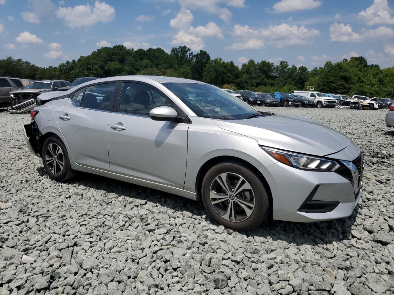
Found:
<svg viewBox="0 0 394 295"><path fill-rule="evenodd" d="M202 203L80 173L51 181L28 114L0 111L0 295L394 293L394 131L387 111L260 109L318 120L367 161L349 218L217 226Z"/></svg>

